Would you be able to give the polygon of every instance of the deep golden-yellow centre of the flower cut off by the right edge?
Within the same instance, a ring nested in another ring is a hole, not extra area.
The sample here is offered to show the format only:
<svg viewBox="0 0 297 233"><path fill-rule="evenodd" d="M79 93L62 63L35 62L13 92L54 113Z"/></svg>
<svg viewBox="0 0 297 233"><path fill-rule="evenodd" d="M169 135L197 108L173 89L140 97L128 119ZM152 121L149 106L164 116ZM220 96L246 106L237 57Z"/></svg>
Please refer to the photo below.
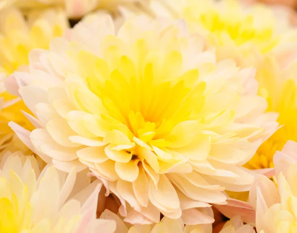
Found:
<svg viewBox="0 0 297 233"><path fill-rule="evenodd" d="M277 103L268 100L268 110L279 113L278 122L282 126L268 138L246 164L249 169L273 168L273 156L281 151L288 140L297 142L297 86L292 79L281 87Z"/></svg>

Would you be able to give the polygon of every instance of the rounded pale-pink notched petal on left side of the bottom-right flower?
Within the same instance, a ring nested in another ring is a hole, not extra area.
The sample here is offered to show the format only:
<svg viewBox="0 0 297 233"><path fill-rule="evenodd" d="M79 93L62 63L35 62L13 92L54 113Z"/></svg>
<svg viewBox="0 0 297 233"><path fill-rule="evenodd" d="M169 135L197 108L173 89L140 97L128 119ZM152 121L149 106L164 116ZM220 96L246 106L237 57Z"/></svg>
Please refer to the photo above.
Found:
<svg viewBox="0 0 297 233"><path fill-rule="evenodd" d="M262 192L268 207L277 202L278 191L274 182L264 175L258 175L249 190L249 202L254 209L256 209L257 189Z"/></svg>

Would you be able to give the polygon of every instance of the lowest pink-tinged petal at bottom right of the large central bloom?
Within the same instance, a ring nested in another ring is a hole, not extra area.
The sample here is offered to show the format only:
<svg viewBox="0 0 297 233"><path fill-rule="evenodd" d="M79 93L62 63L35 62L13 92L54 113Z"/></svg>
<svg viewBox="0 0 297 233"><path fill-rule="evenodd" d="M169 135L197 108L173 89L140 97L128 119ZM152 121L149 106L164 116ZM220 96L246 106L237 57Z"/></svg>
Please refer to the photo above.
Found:
<svg viewBox="0 0 297 233"><path fill-rule="evenodd" d="M212 224L214 222L212 217L202 214L195 208L183 210L181 218L186 225Z"/></svg>

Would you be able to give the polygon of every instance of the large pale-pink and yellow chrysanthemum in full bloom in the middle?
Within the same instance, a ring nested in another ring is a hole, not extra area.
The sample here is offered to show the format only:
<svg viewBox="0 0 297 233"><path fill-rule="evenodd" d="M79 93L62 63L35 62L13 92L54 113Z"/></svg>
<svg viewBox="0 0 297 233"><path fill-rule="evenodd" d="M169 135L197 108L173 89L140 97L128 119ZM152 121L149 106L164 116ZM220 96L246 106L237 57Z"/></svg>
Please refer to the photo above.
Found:
<svg viewBox="0 0 297 233"><path fill-rule="evenodd" d="M37 128L10 125L56 168L89 167L128 222L159 222L160 212L213 222L195 207L224 204L225 187L248 190L241 165L276 127L253 69L217 62L184 21L137 17L115 32L98 15L30 58L6 84Z"/></svg>

